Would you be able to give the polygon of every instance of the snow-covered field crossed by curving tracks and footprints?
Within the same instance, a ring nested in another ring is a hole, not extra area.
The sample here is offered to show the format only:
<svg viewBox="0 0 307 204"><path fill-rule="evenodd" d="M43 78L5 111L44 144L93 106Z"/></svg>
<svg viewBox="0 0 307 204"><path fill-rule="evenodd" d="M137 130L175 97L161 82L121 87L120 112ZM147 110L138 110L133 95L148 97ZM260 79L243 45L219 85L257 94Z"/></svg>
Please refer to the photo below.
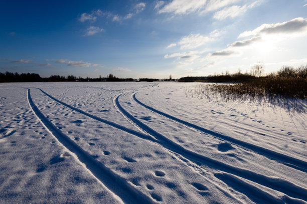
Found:
<svg viewBox="0 0 307 204"><path fill-rule="evenodd" d="M0 203L307 203L307 114L192 85L0 84Z"/></svg>

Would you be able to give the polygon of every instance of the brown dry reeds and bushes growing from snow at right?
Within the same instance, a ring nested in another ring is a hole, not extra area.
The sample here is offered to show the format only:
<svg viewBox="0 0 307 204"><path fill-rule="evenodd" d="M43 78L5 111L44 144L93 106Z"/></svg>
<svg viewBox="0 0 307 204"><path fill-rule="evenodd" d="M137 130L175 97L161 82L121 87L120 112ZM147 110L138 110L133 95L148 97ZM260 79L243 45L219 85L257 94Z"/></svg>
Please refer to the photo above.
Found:
<svg viewBox="0 0 307 204"><path fill-rule="evenodd" d="M200 83L185 88L187 97L208 100L257 101L289 112L305 112L307 104L307 65L297 69L284 66L276 74L234 84Z"/></svg>

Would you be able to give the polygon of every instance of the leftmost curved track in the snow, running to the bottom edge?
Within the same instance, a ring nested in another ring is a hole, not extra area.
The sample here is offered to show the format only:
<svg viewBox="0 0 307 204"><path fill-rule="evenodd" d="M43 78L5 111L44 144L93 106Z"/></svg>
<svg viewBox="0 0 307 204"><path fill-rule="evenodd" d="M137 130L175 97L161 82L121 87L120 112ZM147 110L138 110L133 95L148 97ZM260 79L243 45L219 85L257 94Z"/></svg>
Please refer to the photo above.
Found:
<svg viewBox="0 0 307 204"><path fill-rule="evenodd" d="M112 172L109 168L94 159L87 151L78 146L67 135L57 129L38 109L31 98L30 89L27 93L29 105L45 126L45 128L62 144L65 148L75 154L76 160L81 163L103 186L106 186L115 197L125 203L153 203L148 196L131 186L125 178ZM111 191L112 190L112 191Z"/></svg>

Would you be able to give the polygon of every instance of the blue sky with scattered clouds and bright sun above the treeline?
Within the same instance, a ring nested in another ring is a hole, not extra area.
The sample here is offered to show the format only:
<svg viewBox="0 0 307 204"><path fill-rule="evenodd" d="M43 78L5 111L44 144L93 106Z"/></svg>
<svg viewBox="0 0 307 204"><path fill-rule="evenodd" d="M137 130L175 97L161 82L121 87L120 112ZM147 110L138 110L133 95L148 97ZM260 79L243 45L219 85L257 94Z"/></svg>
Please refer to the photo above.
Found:
<svg viewBox="0 0 307 204"><path fill-rule="evenodd" d="M2 0L0 72L174 78L307 64L307 0Z"/></svg>

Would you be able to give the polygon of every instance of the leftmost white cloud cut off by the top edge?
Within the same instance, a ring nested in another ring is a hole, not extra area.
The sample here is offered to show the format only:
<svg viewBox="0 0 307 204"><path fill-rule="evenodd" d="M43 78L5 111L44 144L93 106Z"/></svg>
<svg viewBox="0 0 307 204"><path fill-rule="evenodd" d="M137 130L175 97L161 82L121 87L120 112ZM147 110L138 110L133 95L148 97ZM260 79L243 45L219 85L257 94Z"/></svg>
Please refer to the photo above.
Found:
<svg viewBox="0 0 307 204"><path fill-rule="evenodd" d="M207 0L173 0L159 10L159 13L188 14L204 8Z"/></svg>

